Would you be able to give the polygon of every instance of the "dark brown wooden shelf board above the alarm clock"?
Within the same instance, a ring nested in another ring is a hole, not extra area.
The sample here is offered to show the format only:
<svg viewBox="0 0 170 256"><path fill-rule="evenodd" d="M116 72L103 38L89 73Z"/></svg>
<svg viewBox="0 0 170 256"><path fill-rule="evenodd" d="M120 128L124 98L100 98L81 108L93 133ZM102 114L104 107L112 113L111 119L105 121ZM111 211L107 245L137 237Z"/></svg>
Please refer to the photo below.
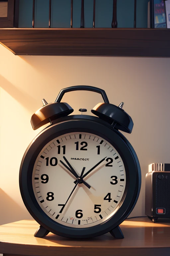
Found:
<svg viewBox="0 0 170 256"><path fill-rule="evenodd" d="M0 28L16 55L170 57L170 30L133 28Z"/></svg>

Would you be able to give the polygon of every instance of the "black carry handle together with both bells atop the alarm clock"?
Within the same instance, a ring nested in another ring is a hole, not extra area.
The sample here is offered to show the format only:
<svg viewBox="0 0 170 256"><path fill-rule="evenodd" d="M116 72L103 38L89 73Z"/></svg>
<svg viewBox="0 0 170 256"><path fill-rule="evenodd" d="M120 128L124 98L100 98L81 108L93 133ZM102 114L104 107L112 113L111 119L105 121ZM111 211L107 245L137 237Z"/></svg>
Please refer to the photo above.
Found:
<svg viewBox="0 0 170 256"><path fill-rule="evenodd" d="M64 93L71 92L71 91L91 91L97 92L102 95L104 103L98 103L91 112L101 118L102 120L106 121L112 128L117 130L122 130L124 132L131 133L133 128L133 121L131 117L122 109L123 102L119 106L115 106L109 103L108 97L106 92L100 88L87 86L87 85L78 85L78 86L71 86L62 89L55 102L48 104L44 99L43 107L41 107L35 114L31 117L31 124L34 130L40 128L42 125L51 123L51 121L68 116L74 110L65 102L60 102ZM52 124L52 123L51 123Z"/></svg>

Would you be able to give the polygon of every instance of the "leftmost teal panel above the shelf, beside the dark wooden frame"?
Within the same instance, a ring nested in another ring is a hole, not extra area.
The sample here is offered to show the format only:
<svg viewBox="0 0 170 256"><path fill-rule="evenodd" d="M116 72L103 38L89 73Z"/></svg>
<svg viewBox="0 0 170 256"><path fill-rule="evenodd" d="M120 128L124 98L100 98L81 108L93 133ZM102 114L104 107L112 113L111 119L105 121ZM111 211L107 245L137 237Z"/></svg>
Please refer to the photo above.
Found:
<svg viewBox="0 0 170 256"><path fill-rule="evenodd" d="M33 0L19 2L19 28L32 28Z"/></svg>

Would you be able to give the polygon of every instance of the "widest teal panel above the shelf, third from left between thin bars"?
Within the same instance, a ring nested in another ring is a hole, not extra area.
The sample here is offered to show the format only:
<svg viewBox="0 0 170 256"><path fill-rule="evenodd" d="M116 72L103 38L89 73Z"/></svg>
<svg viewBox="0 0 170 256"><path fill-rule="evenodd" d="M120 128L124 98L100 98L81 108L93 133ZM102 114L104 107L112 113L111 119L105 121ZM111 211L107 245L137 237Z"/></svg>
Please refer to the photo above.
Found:
<svg viewBox="0 0 170 256"><path fill-rule="evenodd" d="M51 0L51 28L70 28L70 18L71 0Z"/></svg>

